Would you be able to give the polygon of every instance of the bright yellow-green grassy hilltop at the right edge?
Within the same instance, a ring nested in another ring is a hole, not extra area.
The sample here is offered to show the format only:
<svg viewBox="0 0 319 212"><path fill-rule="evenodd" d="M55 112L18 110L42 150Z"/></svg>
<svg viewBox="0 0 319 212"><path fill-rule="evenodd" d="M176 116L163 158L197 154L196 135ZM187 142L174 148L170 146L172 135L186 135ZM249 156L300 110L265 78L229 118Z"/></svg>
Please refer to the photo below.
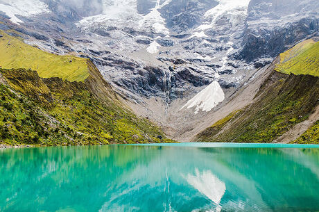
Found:
<svg viewBox="0 0 319 212"><path fill-rule="evenodd" d="M319 76L319 42L305 40L280 54L275 70L284 74Z"/></svg>

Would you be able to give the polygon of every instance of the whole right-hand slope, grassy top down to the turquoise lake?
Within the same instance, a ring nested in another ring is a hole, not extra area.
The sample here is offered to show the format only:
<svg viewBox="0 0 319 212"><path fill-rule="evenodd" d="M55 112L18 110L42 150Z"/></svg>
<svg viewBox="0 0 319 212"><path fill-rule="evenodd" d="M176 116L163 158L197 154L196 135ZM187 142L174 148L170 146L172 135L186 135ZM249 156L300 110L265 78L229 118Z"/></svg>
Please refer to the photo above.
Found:
<svg viewBox="0 0 319 212"><path fill-rule="evenodd" d="M252 103L202 131L196 140L200 142L273 142L296 124L308 120L309 115L316 111L319 104L319 70L318 66L313 65L319 60L318 44L319 42L314 43L308 40L282 54L281 62L261 85ZM308 66L304 65L304 58L311 61L307 63ZM286 63L289 65L286 66ZM295 67L304 68L298 70ZM307 140L318 142L317 134L318 128L314 124L303 137L295 142ZM291 141L293 140L282 140L282 142Z"/></svg>

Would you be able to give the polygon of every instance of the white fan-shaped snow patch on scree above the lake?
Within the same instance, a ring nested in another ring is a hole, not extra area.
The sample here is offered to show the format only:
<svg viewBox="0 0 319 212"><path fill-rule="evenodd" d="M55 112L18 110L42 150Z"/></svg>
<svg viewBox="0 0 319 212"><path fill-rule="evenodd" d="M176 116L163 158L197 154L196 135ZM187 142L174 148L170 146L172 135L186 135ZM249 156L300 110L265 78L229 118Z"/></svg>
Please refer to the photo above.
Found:
<svg viewBox="0 0 319 212"><path fill-rule="evenodd" d="M225 94L223 89L221 89L221 85L217 81L214 81L210 85L208 85L204 90L199 92L195 97L187 101L187 104L180 108L193 108L196 106L195 114L198 113L199 110L202 111L211 111L212 108L217 106L221 101L225 99Z"/></svg>

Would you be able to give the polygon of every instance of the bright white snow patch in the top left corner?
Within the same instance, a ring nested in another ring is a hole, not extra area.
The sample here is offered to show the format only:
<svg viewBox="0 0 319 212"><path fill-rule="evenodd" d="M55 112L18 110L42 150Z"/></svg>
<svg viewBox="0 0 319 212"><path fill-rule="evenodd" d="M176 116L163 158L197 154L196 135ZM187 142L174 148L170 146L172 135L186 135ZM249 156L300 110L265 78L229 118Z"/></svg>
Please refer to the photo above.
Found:
<svg viewBox="0 0 319 212"><path fill-rule="evenodd" d="M0 11L6 13L15 24L23 23L16 15L30 17L50 12L48 6L39 0L0 0Z"/></svg>

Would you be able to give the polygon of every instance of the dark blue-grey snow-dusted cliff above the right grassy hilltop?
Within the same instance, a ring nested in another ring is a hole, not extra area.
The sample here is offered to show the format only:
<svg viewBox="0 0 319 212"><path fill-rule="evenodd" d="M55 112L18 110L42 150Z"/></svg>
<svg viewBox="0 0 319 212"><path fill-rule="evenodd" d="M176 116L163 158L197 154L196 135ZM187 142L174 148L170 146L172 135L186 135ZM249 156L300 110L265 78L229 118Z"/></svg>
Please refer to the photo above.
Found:
<svg viewBox="0 0 319 212"><path fill-rule="evenodd" d="M236 58L273 58L295 42L318 35L319 12L313 8L319 8L318 1L250 1L243 49Z"/></svg>

